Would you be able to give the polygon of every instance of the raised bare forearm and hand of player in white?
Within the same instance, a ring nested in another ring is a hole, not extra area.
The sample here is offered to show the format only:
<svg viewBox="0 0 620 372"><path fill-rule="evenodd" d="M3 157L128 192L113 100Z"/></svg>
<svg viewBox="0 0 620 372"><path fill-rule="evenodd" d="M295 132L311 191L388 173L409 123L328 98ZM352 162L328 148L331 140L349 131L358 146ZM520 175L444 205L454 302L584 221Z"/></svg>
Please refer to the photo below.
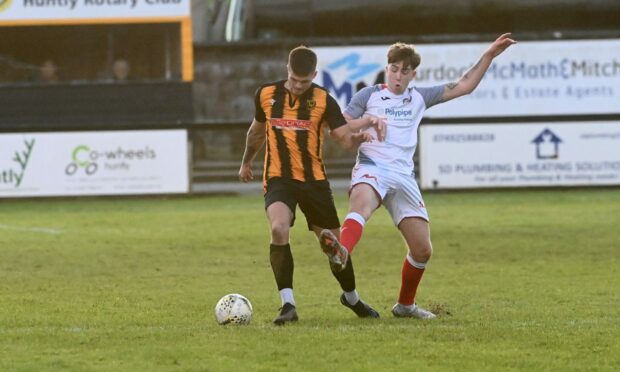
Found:
<svg viewBox="0 0 620 372"><path fill-rule="evenodd" d="M510 33L498 37L497 40L482 53L478 62L467 70L458 81L448 83L444 86L441 102L446 102L473 92L482 80L491 62L493 62L493 58L502 54L509 46L516 43L516 41L510 38Z"/></svg>

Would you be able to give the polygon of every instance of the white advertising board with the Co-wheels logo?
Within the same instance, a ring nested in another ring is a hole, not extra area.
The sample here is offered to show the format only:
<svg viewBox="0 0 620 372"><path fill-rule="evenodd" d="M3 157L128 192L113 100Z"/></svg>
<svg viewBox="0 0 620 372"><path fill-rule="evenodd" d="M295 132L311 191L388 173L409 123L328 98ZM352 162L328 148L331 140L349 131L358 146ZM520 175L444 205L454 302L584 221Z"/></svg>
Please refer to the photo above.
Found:
<svg viewBox="0 0 620 372"><path fill-rule="evenodd" d="M185 130L0 134L0 197L189 191Z"/></svg>

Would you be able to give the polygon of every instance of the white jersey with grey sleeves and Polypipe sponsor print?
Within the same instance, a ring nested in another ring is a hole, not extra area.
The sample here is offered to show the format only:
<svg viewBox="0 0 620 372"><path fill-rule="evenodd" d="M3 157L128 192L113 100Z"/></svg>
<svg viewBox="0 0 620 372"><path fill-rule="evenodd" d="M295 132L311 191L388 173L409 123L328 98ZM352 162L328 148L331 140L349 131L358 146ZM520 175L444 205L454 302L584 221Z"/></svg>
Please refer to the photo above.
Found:
<svg viewBox="0 0 620 372"><path fill-rule="evenodd" d="M374 128L364 131L374 140L362 143L357 153L358 164L373 164L402 174L413 173L413 154L418 144L418 126L424 111L441 100L444 85L429 88L407 88L397 95L385 84L366 87L357 92L344 110L353 119L363 115L383 118L387 123L386 138L377 140Z"/></svg>

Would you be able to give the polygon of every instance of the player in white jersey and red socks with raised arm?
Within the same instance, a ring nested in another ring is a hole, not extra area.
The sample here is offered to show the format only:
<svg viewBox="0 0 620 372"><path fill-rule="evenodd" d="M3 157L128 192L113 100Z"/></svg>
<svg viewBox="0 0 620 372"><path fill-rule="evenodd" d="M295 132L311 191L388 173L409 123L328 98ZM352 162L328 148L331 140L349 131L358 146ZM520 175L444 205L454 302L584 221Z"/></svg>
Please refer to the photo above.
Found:
<svg viewBox="0 0 620 372"><path fill-rule="evenodd" d="M412 45L396 43L387 54L386 84L360 90L344 111L353 130L368 132L374 140L359 147L351 179L349 213L340 241L331 231L324 230L320 235L321 248L330 259L346 262L362 237L366 221L381 204L385 205L408 247L398 302L392 308L394 316L435 318L435 314L415 303L432 253L429 218L413 175L413 154L424 111L471 93L493 59L515 43L509 33L501 35L458 81L430 88L409 87L420 55ZM366 120L354 120L360 118Z"/></svg>

